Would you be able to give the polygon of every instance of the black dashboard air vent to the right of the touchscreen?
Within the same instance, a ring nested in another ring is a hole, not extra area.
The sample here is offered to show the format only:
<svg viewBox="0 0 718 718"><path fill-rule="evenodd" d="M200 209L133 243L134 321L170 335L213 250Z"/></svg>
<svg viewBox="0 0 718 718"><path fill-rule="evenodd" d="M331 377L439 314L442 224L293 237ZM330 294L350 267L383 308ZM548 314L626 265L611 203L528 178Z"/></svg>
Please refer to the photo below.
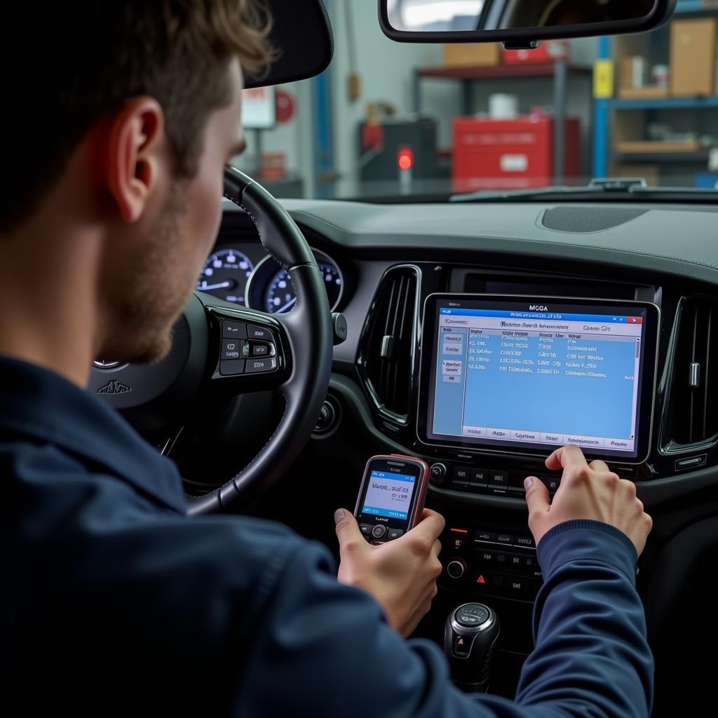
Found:
<svg viewBox="0 0 718 718"><path fill-rule="evenodd" d="M718 434L718 302L682 304L671 387L674 444L702 444Z"/></svg>

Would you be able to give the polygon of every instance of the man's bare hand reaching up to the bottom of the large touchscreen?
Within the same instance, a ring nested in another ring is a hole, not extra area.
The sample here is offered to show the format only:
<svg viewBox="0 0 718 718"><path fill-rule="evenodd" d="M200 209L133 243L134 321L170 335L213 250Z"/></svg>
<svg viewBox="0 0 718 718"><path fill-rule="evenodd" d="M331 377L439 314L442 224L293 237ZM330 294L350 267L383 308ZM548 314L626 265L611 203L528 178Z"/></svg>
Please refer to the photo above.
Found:
<svg viewBox="0 0 718 718"><path fill-rule="evenodd" d="M589 518L610 523L623 531L640 556L645 540L651 533L653 521L643 511L635 495L635 484L620 479L612 473L605 462L587 464L579 447L567 446L556 449L546 459L549 469L564 468L554 503L549 490L535 476L526 479L526 503L528 503L528 528L538 546L546 531L564 521Z"/></svg>

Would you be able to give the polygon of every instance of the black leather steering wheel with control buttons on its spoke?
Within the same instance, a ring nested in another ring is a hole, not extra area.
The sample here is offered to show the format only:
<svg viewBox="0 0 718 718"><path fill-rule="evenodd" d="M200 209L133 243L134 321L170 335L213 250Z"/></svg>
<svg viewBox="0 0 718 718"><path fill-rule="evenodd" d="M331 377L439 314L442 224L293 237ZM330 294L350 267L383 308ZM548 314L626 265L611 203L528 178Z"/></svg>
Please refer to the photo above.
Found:
<svg viewBox="0 0 718 718"><path fill-rule="evenodd" d="M292 277L297 303L287 314L266 314L195 292L174 326L172 349L157 365L95 362L95 391L134 424L157 430L177 422L205 392L225 396L278 391L284 414L274 434L238 474L200 498L192 515L246 503L292 465L320 415L332 368L333 330L317 261L289 213L238 169L225 170L225 197L256 225L265 250Z"/></svg>

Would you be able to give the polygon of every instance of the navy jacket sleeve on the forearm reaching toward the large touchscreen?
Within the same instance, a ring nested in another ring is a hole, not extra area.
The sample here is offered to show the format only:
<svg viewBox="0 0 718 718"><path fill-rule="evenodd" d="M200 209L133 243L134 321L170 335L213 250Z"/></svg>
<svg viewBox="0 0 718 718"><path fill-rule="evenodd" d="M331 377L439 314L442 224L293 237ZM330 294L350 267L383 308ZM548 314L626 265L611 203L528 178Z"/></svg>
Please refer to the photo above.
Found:
<svg viewBox="0 0 718 718"><path fill-rule="evenodd" d="M651 714L653 656L635 590L637 560L628 536L598 521L567 521L541 539L536 648L523 665L519 703L560 705L569 715L582 703L592 715Z"/></svg>

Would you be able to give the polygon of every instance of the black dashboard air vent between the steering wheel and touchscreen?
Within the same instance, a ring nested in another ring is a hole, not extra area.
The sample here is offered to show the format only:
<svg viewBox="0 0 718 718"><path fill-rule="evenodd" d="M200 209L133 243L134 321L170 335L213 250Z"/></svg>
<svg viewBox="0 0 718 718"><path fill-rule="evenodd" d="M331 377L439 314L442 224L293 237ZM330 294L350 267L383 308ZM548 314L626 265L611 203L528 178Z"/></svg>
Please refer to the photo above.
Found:
<svg viewBox="0 0 718 718"><path fill-rule="evenodd" d="M416 342L419 272L413 266L384 275L365 327L360 373L377 409L406 424Z"/></svg>

